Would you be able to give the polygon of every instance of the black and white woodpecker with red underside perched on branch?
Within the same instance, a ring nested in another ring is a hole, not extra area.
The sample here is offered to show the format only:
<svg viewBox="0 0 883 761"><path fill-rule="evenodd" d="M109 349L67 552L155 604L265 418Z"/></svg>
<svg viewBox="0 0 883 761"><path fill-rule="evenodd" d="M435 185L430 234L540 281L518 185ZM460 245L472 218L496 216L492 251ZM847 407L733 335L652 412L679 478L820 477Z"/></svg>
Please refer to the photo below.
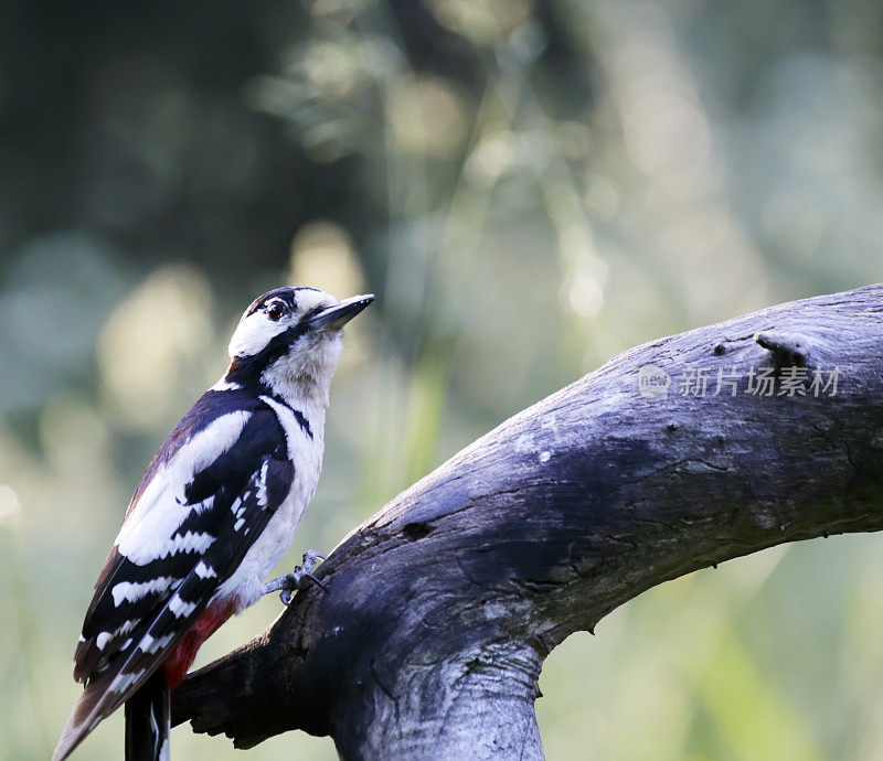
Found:
<svg viewBox="0 0 883 761"><path fill-rule="evenodd" d="M343 325L374 297L315 288L255 299L230 366L178 422L129 502L74 654L84 692L53 761L125 704L127 761L169 759L170 695L200 645L265 593L283 602L325 556L265 583L319 480ZM316 580L318 582L318 580Z"/></svg>

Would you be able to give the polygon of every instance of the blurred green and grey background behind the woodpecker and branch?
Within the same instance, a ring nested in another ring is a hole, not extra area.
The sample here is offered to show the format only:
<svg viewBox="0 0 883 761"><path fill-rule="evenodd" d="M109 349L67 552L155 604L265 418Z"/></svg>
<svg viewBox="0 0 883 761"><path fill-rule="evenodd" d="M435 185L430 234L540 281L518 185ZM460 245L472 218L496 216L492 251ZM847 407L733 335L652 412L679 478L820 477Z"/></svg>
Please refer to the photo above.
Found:
<svg viewBox="0 0 883 761"><path fill-rule="evenodd" d="M0 758L49 757L129 494L265 289L379 297L289 568L634 344L883 280L882 20L877 0L4 0ZM541 687L550 759L883 758L883 537L664 585ZM115 716L78 758L121 741ZM173 746L336 758L304 733Z"/></svg>

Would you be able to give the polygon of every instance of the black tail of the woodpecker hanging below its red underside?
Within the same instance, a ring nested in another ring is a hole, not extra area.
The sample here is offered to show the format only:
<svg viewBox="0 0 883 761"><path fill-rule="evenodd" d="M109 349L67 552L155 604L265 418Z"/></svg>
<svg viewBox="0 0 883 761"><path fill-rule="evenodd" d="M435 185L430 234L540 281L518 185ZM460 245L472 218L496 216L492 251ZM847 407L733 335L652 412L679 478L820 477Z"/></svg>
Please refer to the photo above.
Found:
<svg viewBox="0 0 883 761"><path fill-rule="evenodd" d="M169 761L171 698L160 668L126 700L126 761Z"/></svg>

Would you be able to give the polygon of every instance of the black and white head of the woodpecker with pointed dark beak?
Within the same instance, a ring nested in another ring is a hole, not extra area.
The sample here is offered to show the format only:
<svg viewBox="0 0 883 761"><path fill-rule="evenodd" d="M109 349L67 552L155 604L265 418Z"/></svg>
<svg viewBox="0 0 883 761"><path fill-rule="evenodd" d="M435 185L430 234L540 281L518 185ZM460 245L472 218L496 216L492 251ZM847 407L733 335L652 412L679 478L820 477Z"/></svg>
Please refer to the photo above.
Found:
<svg viewBox="0 0 883 761"><path fill-rule="evenodd" d="M230 341L227 383L266 386L327 404L343 325L374 300L338 301L315 288L277 288L255 299Z"/></svg>

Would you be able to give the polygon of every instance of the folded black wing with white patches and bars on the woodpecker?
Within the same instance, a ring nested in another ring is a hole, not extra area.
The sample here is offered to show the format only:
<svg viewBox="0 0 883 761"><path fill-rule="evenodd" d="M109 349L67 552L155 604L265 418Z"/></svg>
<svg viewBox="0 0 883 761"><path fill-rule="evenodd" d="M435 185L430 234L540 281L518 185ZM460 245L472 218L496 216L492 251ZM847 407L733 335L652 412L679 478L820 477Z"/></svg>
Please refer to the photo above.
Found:
<svg viewBox="0 0 883 761"><path fill-rule="evenodd" d="M74 656L86 687L53 760L160 666L292 480L285 431L266 404L209 392L193 406L148 468L96 583Z"/></svg>

